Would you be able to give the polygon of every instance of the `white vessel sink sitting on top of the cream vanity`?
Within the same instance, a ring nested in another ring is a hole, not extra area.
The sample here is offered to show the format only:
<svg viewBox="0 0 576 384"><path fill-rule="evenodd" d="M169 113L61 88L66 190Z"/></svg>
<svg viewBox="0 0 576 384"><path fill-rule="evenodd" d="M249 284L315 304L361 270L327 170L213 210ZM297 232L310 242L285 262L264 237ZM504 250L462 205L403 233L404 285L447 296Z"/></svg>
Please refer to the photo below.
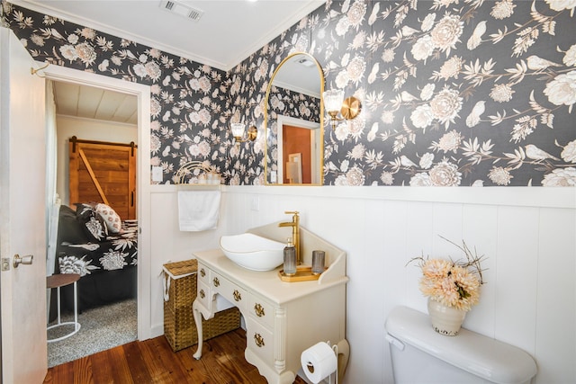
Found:
<svg viewBox="0 0 576 384"><path fill-rule="evenodd" d="M284 243L252 233L220 237L224 255L252 271L271 271L284 263L284 246Z"/></svg>

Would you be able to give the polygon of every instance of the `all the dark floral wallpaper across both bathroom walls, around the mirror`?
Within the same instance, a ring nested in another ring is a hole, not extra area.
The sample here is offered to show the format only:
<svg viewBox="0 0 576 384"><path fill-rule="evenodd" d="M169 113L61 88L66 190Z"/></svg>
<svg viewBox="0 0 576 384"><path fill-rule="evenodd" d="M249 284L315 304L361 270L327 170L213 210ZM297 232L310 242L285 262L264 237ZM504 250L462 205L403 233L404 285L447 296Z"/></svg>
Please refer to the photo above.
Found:
<svg viewBox="0 0 576 384"><path fill-rule="evenodd" d="M576 0L329 1L228 73L3 2L32 56L152 86L152 164L264 183L264 98L294 51L363 103L325 125L325 185L574 186ZM233 145L229 121L254 122Z"/></svg>

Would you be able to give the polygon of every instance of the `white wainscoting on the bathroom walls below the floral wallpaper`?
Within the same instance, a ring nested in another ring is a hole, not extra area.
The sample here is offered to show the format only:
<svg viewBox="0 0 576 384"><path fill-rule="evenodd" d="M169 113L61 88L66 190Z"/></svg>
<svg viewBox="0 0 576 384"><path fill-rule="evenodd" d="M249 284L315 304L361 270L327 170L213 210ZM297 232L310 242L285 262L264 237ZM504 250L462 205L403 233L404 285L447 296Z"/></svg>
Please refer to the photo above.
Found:
<svg viewBox="0 0 576 384"><path fill-rule="evenodd" d="M154 283L167 259L184 260L218 247L221 235L289 220L284 211L299 210L303 227L347 252L351 353L343 384L392 384L386 316L398 305L427 311L419 268L406 263L419 255L457 257L457 247L440 236L464 240L486 256L481 303L464 326L535 357L536 384L572 383L576 194L559 190L224 186L219 228L193 234L177 230L175 187L154 186L150 278ZM255 199L259 210L252 209ZM153 314L160 299L153 294ZM161 317L154 321L159 326Z"/></svg>

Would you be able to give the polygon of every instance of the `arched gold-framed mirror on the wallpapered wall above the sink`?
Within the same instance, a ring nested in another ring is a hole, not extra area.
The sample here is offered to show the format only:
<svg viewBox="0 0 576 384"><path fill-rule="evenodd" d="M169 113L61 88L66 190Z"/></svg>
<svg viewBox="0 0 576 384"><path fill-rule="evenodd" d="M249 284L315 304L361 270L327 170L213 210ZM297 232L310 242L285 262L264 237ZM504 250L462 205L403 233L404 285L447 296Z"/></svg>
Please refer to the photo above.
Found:
<svg viewBox="0 0 576 384"><path fill-rule="evenodd" d="M266 184L321 185L324 167L324 74L308 53L275 69L266 90Z"/></svg>

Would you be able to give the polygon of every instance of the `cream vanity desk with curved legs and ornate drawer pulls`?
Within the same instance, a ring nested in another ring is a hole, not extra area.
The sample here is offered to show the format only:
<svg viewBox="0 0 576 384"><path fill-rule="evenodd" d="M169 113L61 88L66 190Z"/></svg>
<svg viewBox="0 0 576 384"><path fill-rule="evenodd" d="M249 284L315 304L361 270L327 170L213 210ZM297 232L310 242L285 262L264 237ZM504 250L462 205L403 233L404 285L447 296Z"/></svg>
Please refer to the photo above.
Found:
<svg viewBox="0 0 576 384"><path fill-rule="evenodd" d="M318 281L281 281L279 267L254 272L229 260L220 249L195 253L198 292L193 302L198 328L196 359L202 357L202 317L216 312L216 296L236 306L246 321L247 362L269 383L293 383L301 368L302 351L319 342L337 344L346 337L346 254L315 243L302 230L303 264L310 265L311 250L326 250L328 270ZM313 235L311 235L313 237ZM312 240L312 241L311 241ZM328 245L328 246L327 246Z"/></svg>

